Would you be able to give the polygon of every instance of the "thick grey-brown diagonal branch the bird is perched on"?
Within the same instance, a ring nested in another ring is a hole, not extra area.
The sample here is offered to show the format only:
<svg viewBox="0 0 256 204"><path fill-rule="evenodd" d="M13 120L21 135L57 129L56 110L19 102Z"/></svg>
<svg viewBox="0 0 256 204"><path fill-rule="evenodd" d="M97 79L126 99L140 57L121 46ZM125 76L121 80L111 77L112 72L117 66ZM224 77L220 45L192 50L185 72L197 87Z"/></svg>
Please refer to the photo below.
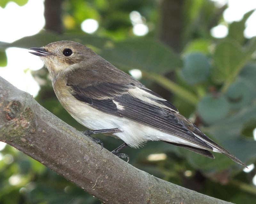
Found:
<svg viewBox="0 0 256 204"><path fill-rule="evenodd" d="M0 77L0 141L109 204L224 204L136 169Z"/></svg>

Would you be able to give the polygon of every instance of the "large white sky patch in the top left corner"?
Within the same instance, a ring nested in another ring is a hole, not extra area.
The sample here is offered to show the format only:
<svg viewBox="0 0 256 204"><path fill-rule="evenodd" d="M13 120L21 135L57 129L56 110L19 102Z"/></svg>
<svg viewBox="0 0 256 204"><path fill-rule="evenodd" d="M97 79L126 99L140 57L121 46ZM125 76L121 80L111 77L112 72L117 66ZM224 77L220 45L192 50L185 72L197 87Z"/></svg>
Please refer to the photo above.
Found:
<svg viewBox="0 0 256 204"><path fill-rule="evenodd" d="M45 24L43 0L29 0L24 6L9 2L0 7L0 41L13 42L38 33Z"/></svg>

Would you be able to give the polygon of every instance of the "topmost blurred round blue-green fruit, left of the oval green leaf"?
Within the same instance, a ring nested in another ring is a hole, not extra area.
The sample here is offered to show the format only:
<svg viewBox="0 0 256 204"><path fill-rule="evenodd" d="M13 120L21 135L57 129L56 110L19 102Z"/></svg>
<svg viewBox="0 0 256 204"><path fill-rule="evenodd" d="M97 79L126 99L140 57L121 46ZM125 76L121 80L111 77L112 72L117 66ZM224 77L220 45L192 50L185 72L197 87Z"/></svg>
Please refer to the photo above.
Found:
<svg viewBox="0 0 256 204"><path fill-rule="evenodd" d="M205 55L191 53L184 57L181 76L188 84L197 84L207 79L211 65Z"/></svg>

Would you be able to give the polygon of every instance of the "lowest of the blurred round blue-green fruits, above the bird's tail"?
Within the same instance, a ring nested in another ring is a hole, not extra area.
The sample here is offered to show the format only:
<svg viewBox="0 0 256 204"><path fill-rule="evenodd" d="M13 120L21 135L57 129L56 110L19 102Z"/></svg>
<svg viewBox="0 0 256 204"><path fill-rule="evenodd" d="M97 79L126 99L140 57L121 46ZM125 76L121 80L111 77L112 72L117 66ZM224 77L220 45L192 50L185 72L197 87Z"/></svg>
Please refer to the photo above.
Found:
<svg viewBox="0 0 256 204"><path fill-rule="evenodd" d="M199 101L197 112L205 123L213 124L228 114L229 104L225 96L214 97L209 94Z"/></svg>

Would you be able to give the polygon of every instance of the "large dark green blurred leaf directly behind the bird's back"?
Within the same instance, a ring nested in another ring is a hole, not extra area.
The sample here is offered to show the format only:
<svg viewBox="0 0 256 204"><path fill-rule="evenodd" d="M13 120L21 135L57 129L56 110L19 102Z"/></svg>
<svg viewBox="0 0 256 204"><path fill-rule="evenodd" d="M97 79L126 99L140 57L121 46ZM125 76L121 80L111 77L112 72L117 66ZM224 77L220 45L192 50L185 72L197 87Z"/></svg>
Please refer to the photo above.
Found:
<svg viewBox="0 0 256 204"><path fill-rule="evenodd" d="M177 54L155 40L130 39L114 42L100 55L123 69L141 69L147 72L164 73L182 65Z"/></svg>

